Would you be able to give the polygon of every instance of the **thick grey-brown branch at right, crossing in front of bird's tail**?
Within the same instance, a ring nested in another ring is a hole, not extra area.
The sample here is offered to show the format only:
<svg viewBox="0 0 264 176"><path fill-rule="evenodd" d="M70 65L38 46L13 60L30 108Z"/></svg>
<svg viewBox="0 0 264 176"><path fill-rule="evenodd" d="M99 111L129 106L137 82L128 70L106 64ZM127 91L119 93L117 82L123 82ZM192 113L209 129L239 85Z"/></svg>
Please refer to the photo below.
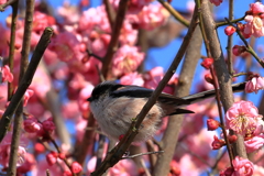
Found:
<svg viewBox="0 0 264 176"><path fill-rule="evenodd" d="M216 69L216 74L219 82L221 102L224 111L228 111L228 109L233 105L233 101L234 101L233 92L231 88L232 76L229 74L229 70L227 68L220 41L216 31L216 23L211 15L208 0L202 0L201 11L202 11L201 14L202 14L204 23L206 26L205 28L206 33L207 33L208 40L210 41L209 46L210 46L210 52L213 58L213 68ZM245 146L244 146L244 140L242 135L238 134L238 140L233 144L233 146L234 146L233 152L235 155L240 155L241 157L248 158Z"/></svg>

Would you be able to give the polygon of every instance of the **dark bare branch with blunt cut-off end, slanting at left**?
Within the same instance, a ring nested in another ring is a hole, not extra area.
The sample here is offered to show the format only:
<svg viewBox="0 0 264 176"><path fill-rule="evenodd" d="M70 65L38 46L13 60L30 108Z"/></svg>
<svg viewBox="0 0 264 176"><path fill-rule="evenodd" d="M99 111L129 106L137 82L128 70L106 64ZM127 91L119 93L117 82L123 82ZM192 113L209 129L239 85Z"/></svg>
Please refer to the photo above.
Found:
<svg viewBox="0 0 264 176"><path fill-rule="evenodd" d="M11 119L12 119L14 111L16 110L19 103L21 102L21 100L23 98L23 95L25 94L26 89L29 88L29 86L32 82L36 67L42 58L43 53L45 52L45 50L50 43L50 38L52 37L52 34L53 34L52 28L46 28L44 30L44 33L42 34L41 40L37 43L35 51L32 55L32 58L31 58L31 62L30 62L30 65L29 65L26 72L25 72L25 75L0 120L0 142L2 141L2 139L4 138L4 135L9 129Z"/></svg>

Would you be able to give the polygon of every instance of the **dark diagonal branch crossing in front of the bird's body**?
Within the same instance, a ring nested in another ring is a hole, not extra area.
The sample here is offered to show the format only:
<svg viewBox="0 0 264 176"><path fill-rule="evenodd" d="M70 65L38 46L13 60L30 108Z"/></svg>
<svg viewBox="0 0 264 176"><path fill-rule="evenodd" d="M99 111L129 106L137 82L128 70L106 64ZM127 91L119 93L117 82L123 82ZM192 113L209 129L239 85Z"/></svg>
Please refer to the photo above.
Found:
<svg viewBox="0 0 264 176"><path fill-rule="evenodd" d="M152 94L152 96L150 97L150 99L147 100L147 102L145 103L143 109L141 110L141 112L136 116L135 119L132 120L130 129L127 132L127 134L124 135L124 138L121 140L121 142L119 142L119 144L112 151L110 151L108 153L108 155L106 156L106 158L102 162L102 164L100 165L100 167L96 172L91 173L91 176L102 175L109 167L113 166L122 158L124 152L128 150L128 147L132 143L133 139L138 134L138 130L140 129L140 125L142 123L142 121L144 120L145 116L147 114L147 112L151 110L151 108L156 102L158 96L161 95L164 87L167 85L170 77L175 74L175 72L185 54L185 51L188 47L188 44L190 42L190 38L193 36L193 33L194 33L196 26L197 26L197 18L195 15L191 20L191 24L189 26L187 35L184 38L183 44L182 44L177 55L175 56L170 67L168 68L168 72L165 74L165 76L163 77L163 79L161 80L157 88L154 90L154 92Z"/></svg>

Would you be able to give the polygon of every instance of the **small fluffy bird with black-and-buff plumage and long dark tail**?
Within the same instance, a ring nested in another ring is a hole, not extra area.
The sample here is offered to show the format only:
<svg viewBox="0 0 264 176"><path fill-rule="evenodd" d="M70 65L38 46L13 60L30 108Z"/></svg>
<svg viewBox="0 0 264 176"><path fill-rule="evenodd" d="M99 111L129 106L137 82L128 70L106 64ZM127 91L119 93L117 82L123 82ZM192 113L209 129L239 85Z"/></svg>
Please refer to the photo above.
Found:
<svg viewBox="0 0 264 176"><path fill-rule="evenodd" d="M245 82L232 86L233 91L242 91ZM97 85L89 101L90 110L97 120L101 131L110 139L118 141L130 128L151 95L153 89L140 86L121 85L116 81L103 81ZM215 90L202 91L186 97L175 97L162 92L156 103L144 118L134 143L147 141L155 135L162 124L162 118L173 114L195 113L180 107L188 106L204 99L216 96Z"/></svg>

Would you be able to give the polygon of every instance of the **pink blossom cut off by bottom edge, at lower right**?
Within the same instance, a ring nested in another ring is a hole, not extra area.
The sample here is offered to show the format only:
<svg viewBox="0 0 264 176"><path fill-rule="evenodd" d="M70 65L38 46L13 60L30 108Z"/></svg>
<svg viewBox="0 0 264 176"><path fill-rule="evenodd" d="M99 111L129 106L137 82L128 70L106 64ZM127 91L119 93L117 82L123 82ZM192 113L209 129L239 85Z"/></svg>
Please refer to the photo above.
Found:
<svg viewBox="0 0 264 176"><path fill-rule="evenodd" d="M232 176L252 176L254 174L254 165L246 158L237 156L233 161L234 173Z"/></svg>

